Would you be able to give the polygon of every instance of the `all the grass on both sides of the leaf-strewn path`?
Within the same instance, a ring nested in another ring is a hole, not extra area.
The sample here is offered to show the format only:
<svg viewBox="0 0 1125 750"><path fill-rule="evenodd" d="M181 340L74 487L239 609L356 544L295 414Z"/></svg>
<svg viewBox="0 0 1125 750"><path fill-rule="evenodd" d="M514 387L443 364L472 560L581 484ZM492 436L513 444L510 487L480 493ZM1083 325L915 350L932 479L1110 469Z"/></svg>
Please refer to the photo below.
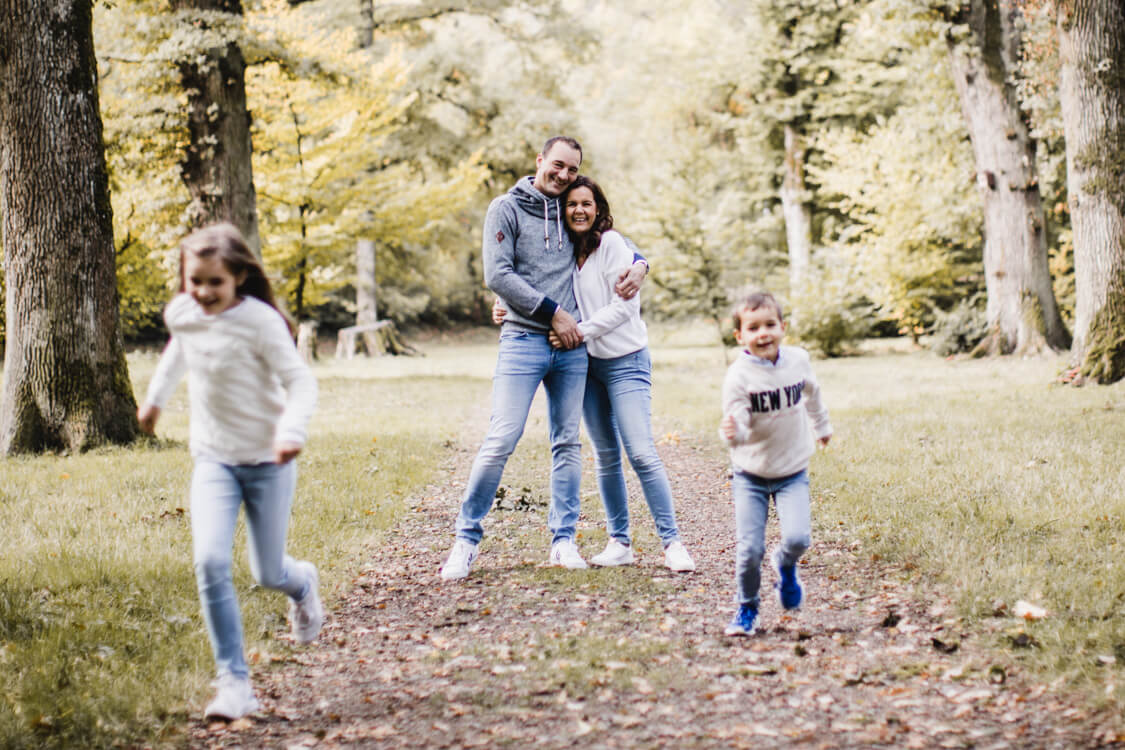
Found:
<svg viewBox="0 0 1125 750"><path fill-rule="evenodd" d="M678 435L721 466L724 356L693 343L708 334L654 329L654 422L658 436ZM321 403L300 458L290 550L321 566L330 602L363 546L438 478L451 446L471 450L484 434L494 336L423 349L424 358L315 368ZM138 392L154 363L130 356ZM1024 669L1064 678L1092 703L1125 706L1125 386L1054 386L1061 362L1051 360L947 362L919 352L814 367L836 428L813 459L816 534L894 562L924 590L940 587L968 627ZM0 747L174 742L208 697L213 663L183 510L186 389L158 432L159 441L134 449L0 463ZM533 412L504 478L533 503L548 495L546 433ZM595 498L587 482L584 508L596 514ZM544 513L528 514L537 532ZM637 532L639 545L655 546L648 525ZM590 531L584 546L603 533ZM529 559L544 558L546 535L529 539L541 544L520 542ZM236 585L248 649L284 654L288 645L274 639L284 602L251 587L244 544L240 536ZM569 588L565 573L534 564L515 578ZM1027 623L993 616L997 602L1010 609L1018 599L1051 614ZM1037 647L1011 649L1014 630ZM596 633L532 635L550 657L520 679L561 662L562 681L579 693L602 687L584 676L592 674L657 684L660 674L640 665L678 648L655 643L644 659L622 660L616 642ZM608 661L629 665L606 671Z"/></svg>

